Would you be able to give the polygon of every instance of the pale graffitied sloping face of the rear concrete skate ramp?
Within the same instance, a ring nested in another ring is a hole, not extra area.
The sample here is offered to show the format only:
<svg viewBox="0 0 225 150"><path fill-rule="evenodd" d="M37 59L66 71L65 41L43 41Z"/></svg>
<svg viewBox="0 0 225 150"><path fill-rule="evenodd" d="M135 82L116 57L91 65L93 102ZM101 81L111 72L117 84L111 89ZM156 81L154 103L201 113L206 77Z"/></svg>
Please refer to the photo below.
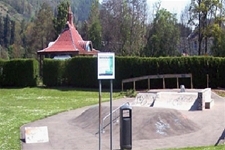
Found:
<svg viewBox="0 0 225 150"><path fill-rule="evenodd" d="M132 106L196 110L197 92L146 92L138 93Z"/></svg>

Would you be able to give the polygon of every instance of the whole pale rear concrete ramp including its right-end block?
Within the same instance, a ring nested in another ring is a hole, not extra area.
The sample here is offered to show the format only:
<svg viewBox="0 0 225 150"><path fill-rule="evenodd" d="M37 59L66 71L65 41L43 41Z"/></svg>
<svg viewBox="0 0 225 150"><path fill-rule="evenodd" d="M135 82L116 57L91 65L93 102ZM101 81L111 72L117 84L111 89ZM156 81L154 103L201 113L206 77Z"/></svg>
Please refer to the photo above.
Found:
<svg viewBox="0 0 225 150"><path fill-rule="evenodd" d="M199 96L199 93L202 96ZM199 99L201 97L201 99ZM142 106L142 107L157 107L157 108L170 108L177 110L199 110L199 103L202 107L206 106L210 109L214 103L211 98L211 89L199 89L192 90L186 89L185 92L180 92L179 89L174 90L150 90L148 92L140 92L137 94L133 106ZM210 103L210 104L208 104ZM210 105L210 106L209 106ZM202 108L201 110L203 110Z"/></svg>

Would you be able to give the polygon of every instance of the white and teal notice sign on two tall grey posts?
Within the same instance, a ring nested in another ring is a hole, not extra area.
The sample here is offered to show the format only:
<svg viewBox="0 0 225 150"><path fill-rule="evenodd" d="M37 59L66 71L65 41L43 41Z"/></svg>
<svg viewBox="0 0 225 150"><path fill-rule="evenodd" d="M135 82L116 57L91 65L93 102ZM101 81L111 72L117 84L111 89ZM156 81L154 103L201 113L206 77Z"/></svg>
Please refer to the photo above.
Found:
<svg viewBox="0 0 225 150"><path fill-rule="evenodd" d="M110 80L110 150L112 150L112 80L115 79L115 54L98 53L98 80L99 80L99 150L101 150L101 80Z"/></svg>

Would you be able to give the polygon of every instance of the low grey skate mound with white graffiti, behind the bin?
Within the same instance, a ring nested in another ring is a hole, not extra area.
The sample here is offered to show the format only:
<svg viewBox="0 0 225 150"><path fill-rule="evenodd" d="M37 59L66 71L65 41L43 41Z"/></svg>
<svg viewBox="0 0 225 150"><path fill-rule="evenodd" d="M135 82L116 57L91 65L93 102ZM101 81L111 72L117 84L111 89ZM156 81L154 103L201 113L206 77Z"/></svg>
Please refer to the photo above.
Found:
<svg viewBox="0 0 225 150"><path fill-rule="evenodd" d="M108 114L109 107L102 108L102 114ZM104 115L103 115L104 116ZM91 134L98 133L98 107L92 107L72 120L72 124L79 126ZM120 136L120 123L113 122L113 136ZM158 139L169 136L195 132L199 127L179 111L174 109L135 107L132 108L132 138ZM105 128L103 137L109 137L110 128Z"/></svg>

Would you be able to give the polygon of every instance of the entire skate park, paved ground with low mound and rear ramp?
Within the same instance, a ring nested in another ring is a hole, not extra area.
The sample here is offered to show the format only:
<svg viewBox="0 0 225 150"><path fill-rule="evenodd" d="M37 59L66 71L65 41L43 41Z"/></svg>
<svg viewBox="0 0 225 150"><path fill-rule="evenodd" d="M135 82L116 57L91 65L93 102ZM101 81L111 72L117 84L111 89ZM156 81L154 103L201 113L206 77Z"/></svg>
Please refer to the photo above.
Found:
<svg viewBox="0 0 225 150"><path fill-rule="evenodd" d="M151 150L224 143L225 100L210 88L152 89L113 101L113 149L120 149L120 114L132 107L132 149ZM109 102L102 103L101 148L110 149ZM60 113L21 127L47 126L49 142L22 143L23 150L98 149L99 106Z"/></svg>

